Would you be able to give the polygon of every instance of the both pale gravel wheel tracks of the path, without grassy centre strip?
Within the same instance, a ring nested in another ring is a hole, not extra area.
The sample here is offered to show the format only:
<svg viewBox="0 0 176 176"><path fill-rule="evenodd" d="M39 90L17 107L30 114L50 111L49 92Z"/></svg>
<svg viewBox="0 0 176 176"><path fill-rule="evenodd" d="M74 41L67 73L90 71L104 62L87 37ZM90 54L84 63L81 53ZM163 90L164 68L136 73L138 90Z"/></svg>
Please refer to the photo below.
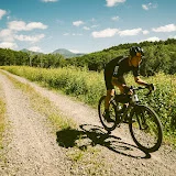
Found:
<svg viewBox="0 0 176 176"><path fill-rule="evenodd" d="M63 114L80 124L78 131L87 134L94 147L101 151L101 158L111 165L108 175L176 175L176 152L169 146L163 145L160 151L146 156L133 143L127 125L114 130L111 135L106 135L98 120L97 110L24 78L13 77L30 84L42 96L53 101ZM56 144L56 136L51 135L50 129L45 125L45 118L30 109L28 97L15 89L6 76L0 75L0 82L3 85L8 117L11 122L9 163L3 168L3 173L19 176L72 175L69 172L72 164L65 155L67 148Z"/></svg>

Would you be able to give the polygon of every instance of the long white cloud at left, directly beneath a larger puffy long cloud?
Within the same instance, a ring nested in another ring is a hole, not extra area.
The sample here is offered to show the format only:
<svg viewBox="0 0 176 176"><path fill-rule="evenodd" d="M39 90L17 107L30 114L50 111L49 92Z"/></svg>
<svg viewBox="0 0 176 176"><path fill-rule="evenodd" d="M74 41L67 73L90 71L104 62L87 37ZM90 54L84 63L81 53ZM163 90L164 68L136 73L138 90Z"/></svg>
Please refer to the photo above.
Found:
<svg viewBox="0 0 176 176"><path fill-rule="evenodd" d="M41 41L45 35L44 34L40 34L40 35L35 35L35 36L29 36L29 35L15 35L14 38L19 40L19 41L28 41L28 42L38 42Z"/></svg>

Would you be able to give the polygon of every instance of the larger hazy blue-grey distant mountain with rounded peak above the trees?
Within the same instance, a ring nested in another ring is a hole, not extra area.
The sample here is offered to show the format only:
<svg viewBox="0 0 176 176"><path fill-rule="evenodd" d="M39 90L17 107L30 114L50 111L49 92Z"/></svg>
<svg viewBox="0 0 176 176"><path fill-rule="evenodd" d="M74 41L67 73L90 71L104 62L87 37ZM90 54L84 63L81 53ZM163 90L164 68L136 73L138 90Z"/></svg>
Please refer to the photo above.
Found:
<svg viewBox="0 0 176 176"><path fill-rule="evenodd" d="M63 55L66 58L79 57L79 56L85 55L84 53L73 53L73 52L65 50L65 48L58 48L58 50L54 51L52 54L57 54L57 53Z"/></svg>

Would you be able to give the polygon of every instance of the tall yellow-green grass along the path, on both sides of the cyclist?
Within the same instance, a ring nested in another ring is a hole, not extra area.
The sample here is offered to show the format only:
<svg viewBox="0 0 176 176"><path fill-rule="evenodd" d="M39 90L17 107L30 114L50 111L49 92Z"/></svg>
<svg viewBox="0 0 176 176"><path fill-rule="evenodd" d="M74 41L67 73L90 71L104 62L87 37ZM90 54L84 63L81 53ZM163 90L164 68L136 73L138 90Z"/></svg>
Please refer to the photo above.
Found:
<svg viewBox="0 0 176 176"><path fill-rule="evenodd" d="M103 73L67 67L44 69L7 66L1 68L50 88L62 90L66 95L75 96L94 107L97 107L99 98L106 94ZM150 105L156 111L166 136L176 139L176 77L160 73L154 77L143 79L153 82L156 90L147 99L142 96L143 92L140 97L144 103ZM135 85L132 76L127 76L127 82Z"/></svg>

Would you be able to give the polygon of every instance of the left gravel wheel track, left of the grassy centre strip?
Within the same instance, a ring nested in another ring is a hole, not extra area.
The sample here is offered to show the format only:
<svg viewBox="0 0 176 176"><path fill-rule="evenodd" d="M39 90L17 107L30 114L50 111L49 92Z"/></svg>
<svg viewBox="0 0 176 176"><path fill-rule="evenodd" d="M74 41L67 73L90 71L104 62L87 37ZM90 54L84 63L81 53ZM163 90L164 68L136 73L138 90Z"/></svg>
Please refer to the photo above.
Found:
<svg viewBox="0 0 176 176"><path fill-rule="evenodd" d="M28 97L0 75L10 121L4 175L69 175L69 162L50 135L45 118L30 109Z"/></svg>

